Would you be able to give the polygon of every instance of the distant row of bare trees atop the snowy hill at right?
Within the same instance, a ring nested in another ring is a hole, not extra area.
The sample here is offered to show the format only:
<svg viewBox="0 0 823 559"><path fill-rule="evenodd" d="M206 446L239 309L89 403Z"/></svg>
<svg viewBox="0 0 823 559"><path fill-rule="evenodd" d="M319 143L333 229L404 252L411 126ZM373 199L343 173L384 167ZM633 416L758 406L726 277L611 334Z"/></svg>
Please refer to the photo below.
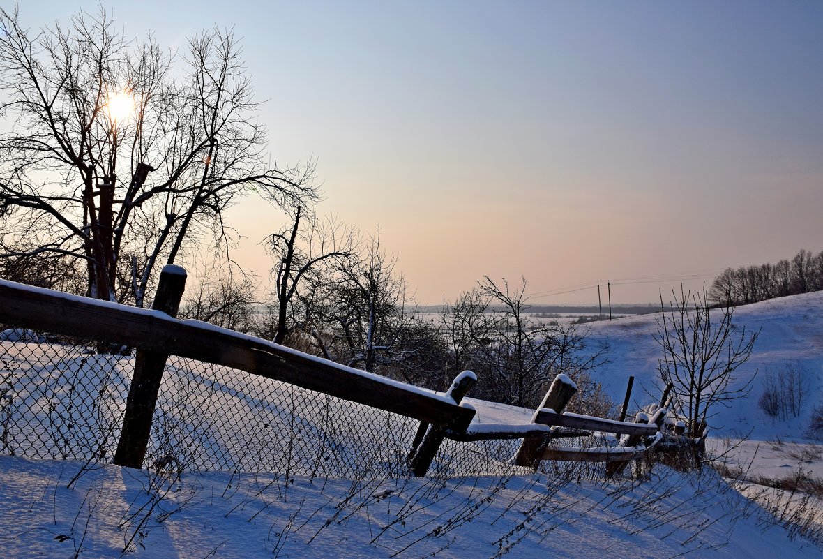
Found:
<svg viewBox="0 0 823 559"><path fill-rule="evenodd" d="M709 297L718 305L748 305L761 300L823 290L823 251L801 249L776 264L726 268L712 281Z"/></svg>

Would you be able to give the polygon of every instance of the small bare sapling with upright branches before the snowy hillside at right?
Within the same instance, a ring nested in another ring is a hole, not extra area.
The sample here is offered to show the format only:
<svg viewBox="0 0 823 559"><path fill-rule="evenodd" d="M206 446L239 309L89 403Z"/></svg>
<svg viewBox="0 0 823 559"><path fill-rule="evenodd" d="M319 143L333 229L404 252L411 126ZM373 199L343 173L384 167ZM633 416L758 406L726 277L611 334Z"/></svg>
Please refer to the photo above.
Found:
<svg viewBox="0 0 823 559"><path fill-rule="evenodd" d="M751 379L738 382L735 371L748 361L758 332L732 324L734 307L709 310L707 292L684 292L663 303L655 341L663 349L658 371L664 385L672 384L676 408L688 422L690 436L700 437L718 406L728 406L751 389Z"/></svg>

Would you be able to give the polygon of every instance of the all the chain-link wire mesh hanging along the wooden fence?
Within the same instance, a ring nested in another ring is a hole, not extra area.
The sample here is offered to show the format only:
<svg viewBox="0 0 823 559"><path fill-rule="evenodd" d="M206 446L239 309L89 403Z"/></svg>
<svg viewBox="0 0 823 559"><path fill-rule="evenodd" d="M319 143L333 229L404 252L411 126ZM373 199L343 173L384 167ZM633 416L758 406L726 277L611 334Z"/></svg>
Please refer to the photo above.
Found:
<svg viewBox="0 0 823 559"><path fill-rule="evenodd" d="M0 454L109 462L134 357L43 333L6 338L0 341ZM400 477L409 474L417 426L411 418L359 403L170 356L144 466L286 477ZM551 444L582 449L593 440ZM444 440L429 475L531 473L514 465L520 445L521 440ZM540 468L568 477L602 475L602 464L543 461Z"/></svg>

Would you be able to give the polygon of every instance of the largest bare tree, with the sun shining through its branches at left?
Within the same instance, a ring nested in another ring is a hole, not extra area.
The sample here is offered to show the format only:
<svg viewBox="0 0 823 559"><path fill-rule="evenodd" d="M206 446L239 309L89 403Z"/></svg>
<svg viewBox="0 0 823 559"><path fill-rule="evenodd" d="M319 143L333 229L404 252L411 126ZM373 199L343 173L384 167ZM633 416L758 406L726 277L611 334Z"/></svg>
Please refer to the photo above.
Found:
<svg viewBox="0 0 823 559"><path fill-rule="evenodd" d="M0 9L0 256L63 255L89 295L142 306L158 263L203 237L230 248L239 196L316 198L311 164L266 164L234 35L207 31L185 53L125 40L102 10L32 34Z"/></svg>

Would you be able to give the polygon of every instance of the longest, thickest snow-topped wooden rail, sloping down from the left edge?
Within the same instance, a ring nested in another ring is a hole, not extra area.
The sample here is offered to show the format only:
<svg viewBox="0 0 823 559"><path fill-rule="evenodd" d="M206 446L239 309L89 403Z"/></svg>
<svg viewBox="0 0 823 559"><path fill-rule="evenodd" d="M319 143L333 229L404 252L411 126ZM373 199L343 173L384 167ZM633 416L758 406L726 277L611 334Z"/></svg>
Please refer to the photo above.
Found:
<svg viewBox="0 0 823 559"><path fill-rule="evenodd" d="M268 379L448 425L474 416L451 398L198 320L0 280L0 323L245 370Z"/></svg>

